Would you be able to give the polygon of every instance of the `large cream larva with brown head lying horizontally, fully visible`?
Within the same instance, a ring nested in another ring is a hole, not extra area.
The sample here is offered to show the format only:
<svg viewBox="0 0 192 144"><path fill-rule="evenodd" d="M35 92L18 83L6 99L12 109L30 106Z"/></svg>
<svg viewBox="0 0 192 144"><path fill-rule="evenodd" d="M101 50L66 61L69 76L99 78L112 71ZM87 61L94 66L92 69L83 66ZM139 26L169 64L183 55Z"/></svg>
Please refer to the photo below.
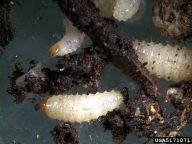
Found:
<svg viewBox="0 0 192 144"><path fill-rule="evenodd" d="M50 118L65 122L89 122L118 108L123 96L118 91L89 95L58 95L40 102L40 110Z"/></svg>

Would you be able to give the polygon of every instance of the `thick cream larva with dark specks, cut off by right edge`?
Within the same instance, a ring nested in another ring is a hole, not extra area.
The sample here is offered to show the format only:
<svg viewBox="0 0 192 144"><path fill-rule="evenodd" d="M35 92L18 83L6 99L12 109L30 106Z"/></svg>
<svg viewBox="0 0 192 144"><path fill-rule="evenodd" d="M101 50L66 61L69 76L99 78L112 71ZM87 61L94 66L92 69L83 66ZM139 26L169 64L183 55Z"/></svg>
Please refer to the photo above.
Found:
<svg viewBox="0 0 192 144"><path fill-rule="evenodd" d="M134 41L139 61L147 62L146 68L158 77L172 80L192 80L192 51L186 47L169 44Z"/></svg>

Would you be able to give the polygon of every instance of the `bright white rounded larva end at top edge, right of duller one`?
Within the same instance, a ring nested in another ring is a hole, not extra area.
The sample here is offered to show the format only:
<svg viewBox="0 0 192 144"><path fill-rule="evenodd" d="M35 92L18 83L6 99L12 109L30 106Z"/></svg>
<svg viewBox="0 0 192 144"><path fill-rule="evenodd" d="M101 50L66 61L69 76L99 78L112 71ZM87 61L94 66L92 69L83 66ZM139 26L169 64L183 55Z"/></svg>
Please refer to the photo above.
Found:
<svg viewBox="0 0 192 144"><path fill-rule="evenodd" d="M119 21L126 21L132 18L133 15L139 10L141 0L116 0L114 7L114 18Z"/></svg>

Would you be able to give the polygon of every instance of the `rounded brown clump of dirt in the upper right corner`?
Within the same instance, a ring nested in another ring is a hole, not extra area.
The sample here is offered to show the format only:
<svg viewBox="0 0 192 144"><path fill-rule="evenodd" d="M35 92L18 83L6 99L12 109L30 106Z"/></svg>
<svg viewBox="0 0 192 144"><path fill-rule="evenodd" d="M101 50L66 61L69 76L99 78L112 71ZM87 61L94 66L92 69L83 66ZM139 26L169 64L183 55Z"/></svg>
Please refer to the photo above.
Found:
<svg viewBox="0 0 192 144"><path fill-rule="evenodd" d="M174 40L192 37L191 0L153 0L153 22L159 33Z"/></svg>

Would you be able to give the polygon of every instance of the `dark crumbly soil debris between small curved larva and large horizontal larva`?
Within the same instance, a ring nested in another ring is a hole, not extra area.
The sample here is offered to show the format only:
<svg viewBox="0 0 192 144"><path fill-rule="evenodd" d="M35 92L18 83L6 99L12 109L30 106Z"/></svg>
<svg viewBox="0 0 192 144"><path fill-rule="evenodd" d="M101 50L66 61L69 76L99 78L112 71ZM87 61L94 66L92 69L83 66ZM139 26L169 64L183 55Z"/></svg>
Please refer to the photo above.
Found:
<svg viewBox="0 0 192 144"><path fill-rule="evenodd" d="M56 71L43 66L38 69L37 65L40 64L36 61L31 61L30 65L29 71L24 73L20 63L15 63L16 71L9 77L10 87L7 88L7 93L15 97L16 103L21 103L27 93L60 94L70 91L76 85L89 87L90 92L95 93L106 65L106 58L97 50L87 48L83 53L62 57L55 64L58 68Z"/></svg>

